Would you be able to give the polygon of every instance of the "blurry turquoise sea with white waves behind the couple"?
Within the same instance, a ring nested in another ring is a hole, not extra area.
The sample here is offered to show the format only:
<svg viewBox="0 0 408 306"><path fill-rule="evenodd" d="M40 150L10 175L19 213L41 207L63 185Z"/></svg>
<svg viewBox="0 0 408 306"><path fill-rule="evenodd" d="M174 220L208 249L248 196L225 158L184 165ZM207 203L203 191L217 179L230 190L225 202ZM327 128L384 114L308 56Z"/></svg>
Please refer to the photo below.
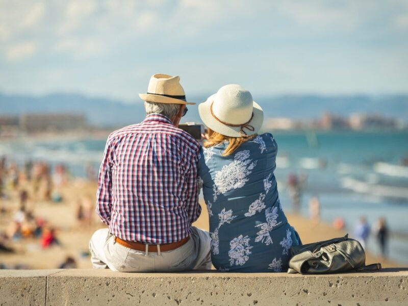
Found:
<svg viewBox="0 0 408 306"><path fill-rule="evenodd" d="M408 265L408 131L272 131L278 144L275 176L285 210L292 209L288 177L306 177L301 192L302 215L317 197L321 218L343 218L346 231L360 217L374 227L384 217L393 233L391 259ZM23 164L28 160L64 164L73 176L97 171L106 139L91 137L0 140L0 156ZM367 248L379 254L372 235Z"/></svg>

